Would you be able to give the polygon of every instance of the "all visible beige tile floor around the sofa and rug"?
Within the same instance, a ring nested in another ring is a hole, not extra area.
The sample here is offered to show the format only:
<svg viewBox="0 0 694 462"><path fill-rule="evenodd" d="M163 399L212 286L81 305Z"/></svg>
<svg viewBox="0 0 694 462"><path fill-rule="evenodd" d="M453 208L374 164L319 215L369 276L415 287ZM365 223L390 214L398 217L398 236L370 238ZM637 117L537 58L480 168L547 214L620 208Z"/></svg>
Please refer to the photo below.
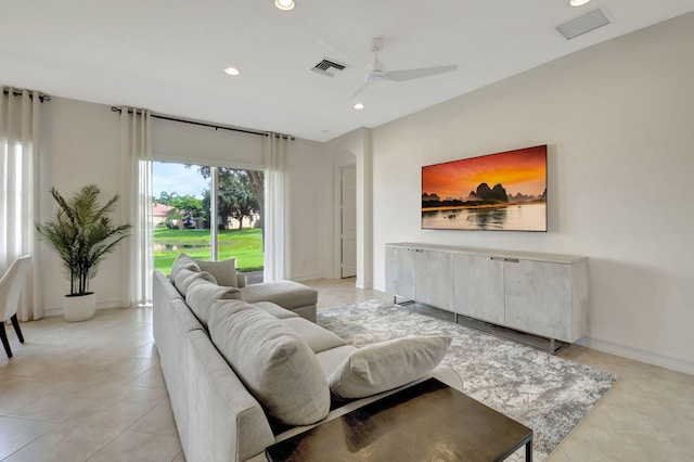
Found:
<svg viewBox="0 0 694 462"><path fill-rule="evenodd" d="M354 280L307 281L319 309L377 298ZM47 318L8 329L0 351L1 461L184 461L152 339L151 308ZM550 458L694 460L694 376L570 346L560 354L621 376Z"/></svg>

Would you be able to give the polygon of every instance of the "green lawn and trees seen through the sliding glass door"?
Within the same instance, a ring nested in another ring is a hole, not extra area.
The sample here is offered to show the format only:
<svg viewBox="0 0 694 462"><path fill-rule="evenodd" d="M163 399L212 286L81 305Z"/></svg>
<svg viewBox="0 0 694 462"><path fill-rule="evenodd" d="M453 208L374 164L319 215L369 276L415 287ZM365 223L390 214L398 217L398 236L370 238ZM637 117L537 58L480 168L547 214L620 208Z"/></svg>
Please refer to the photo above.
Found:
<svg viewBox="0 0 694 462"><path fill-rule="evenodd" d="M155 162L152 174L155 269L168 274L184 252L262 270L262 171Z"/></svg>

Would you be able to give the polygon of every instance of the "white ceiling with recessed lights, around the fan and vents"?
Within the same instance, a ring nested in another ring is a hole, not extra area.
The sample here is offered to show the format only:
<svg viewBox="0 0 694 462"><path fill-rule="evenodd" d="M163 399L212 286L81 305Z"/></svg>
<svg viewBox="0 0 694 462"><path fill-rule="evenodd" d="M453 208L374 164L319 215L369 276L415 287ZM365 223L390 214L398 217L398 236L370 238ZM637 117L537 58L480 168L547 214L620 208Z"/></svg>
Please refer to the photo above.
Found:
<svg viewBox="0 0 694 462"><path fill-rule="evenodd" d="M692 0L296 2L283 12L273 0L3 1L0 84L325 141L694 10ZM612 24L570 41L554 29L595 8ZM356 111L362 69L309 69L323 57L367 65L374 36L387 69L459 68L371 87ZM223 74L230 64L242 74Z"/></svg>

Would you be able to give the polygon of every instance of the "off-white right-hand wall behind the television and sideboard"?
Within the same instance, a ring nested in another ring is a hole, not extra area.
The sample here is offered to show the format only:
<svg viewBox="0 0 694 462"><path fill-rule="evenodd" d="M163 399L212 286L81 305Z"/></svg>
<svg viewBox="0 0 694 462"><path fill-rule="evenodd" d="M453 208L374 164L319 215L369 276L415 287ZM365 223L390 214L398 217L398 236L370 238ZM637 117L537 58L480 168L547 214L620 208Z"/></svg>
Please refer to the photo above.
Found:
<svg viewBox="0 0 694 462"><path fill-rule="evenodd" d="M374 129L375 287L388 242L587 255L583 343L694 373L692 56L687 14ZM420 229L422 165L545 143L548 233Z"/></svg>

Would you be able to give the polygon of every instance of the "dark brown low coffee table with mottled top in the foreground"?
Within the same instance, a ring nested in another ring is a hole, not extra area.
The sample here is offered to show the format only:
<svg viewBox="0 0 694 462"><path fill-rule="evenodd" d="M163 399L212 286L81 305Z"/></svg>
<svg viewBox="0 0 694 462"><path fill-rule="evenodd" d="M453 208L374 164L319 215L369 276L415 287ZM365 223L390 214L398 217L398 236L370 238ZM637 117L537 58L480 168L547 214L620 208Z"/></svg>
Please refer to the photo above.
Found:
<svg viewBox="0 0 694 462"><path fill-rule="evenodd" d="M502 461L532 431L429 378L270 446L278 461Z"/></svg>

